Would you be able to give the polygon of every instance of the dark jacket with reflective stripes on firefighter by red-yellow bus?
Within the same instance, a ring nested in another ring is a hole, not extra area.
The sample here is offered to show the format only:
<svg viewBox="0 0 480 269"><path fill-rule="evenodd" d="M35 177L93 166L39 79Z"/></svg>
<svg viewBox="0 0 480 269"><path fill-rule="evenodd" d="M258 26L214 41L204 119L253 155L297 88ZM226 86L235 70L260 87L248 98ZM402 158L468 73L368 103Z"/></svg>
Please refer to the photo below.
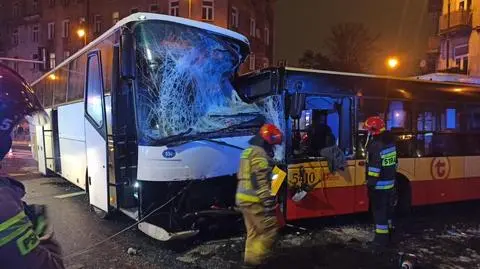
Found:
<svg viewBox="0 0 480 269"><path fill-rule="evenodd" d="M394 143L385 143L375 136L367 146L367 185L375 190L390 190L395 186L397 150Z"/></svg>

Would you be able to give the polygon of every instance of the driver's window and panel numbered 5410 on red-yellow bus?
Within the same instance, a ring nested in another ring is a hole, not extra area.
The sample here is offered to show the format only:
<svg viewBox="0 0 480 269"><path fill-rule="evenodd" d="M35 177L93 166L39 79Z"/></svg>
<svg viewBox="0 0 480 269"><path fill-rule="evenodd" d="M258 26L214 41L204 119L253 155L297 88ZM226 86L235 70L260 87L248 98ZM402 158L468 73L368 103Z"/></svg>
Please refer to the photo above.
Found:
<svg viewBox="0 0 480 269"><path fill-rule="evenodd" d="M321 149L334 144L351 147L351 98L310 96L306 101L306 110L293 128L301 141L295 143L299 149L288 166L292 199L287 202L287 219L353 213L355 160L348 156L343 170L331 171L328 158L320 155Z"/></svg>

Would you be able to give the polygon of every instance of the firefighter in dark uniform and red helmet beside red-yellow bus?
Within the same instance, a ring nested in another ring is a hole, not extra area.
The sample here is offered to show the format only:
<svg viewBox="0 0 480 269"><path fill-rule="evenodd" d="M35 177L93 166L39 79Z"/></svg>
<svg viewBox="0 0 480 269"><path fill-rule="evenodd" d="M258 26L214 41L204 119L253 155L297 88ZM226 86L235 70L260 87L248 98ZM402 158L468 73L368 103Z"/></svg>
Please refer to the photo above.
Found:
<svg viewBox="0 0 480 269"><path fill-rule="evenodd" d="M367 186L375 220L373 244L386 246L393 231L397 150L383 119L370 117L365 128L371 138L367 145Z"/></svg>

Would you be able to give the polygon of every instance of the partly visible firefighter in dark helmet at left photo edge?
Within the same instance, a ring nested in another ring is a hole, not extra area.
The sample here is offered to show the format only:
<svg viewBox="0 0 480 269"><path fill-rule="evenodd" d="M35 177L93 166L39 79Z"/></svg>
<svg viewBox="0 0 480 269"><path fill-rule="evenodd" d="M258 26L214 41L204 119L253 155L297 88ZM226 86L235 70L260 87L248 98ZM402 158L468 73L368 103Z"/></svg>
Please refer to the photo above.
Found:
<svg viewBox="0 0 480 269"><path fill-rule="evenodd" d="M0 64L0 160L10 150L10 134L19 121L27 117L44 122L45 115L23 78ZM59 245L46 234L44 207L25 204L24 195L21 182L0 177L0 267L64 268Z"/></svg>

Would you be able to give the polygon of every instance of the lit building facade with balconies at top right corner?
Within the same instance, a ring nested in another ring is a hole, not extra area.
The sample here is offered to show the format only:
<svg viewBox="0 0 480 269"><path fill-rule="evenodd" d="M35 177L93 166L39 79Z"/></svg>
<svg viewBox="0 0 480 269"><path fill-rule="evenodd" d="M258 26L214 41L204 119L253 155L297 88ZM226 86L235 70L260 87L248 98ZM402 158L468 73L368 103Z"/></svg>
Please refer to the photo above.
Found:
<svg viewBox="0 0 480 269"><path fill-rule="evenodd" d="M438 27L429 39L436 72L480 76L480 1L431 0Z"/></svg>

